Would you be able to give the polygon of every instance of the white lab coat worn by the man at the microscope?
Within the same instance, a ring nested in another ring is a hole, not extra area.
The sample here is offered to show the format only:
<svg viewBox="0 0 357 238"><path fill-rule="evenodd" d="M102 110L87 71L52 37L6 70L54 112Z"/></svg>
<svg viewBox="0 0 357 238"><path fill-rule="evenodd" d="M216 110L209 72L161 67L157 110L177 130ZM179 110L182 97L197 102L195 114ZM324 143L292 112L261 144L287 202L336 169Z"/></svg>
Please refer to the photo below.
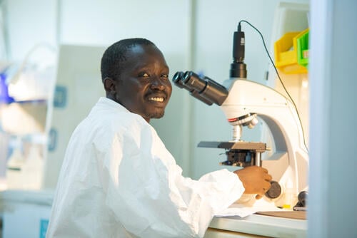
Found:
<svg viewBox="0 0 357 238"><path fill-rule="evenodd" d="M203 237L243 185L228 170L181 172L149 123L100 98L69 141L46 237Z"/></svg>

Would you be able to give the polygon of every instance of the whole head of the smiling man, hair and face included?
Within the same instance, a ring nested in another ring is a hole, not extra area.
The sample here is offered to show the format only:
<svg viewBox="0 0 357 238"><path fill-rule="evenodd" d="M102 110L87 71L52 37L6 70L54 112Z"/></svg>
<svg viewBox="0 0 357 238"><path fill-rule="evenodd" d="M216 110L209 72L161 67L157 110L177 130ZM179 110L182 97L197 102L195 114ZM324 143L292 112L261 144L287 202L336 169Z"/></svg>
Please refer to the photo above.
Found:
<svg viewBox="0 0 357 238"><path fill-rule="evenodd" d="M172 91L169 66L154 44L143 39L136 39L137 44L131 41L116 43L104 53L101 67L104 88L107 98L141 115L149 123L150 118L164 115L169 102ZM123 52L125 60L109 52Z"/></svg>

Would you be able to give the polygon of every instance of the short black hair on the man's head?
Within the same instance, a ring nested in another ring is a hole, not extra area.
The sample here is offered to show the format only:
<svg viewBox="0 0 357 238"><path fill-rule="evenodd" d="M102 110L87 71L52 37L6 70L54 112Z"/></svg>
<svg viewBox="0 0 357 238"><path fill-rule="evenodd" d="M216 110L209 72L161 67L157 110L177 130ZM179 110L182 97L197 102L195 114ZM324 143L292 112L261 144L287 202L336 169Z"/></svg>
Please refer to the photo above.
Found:
<svg viewBox="0 0 357 238"><path fill-rule="evenodd" d="M126 38L109 46L101 57L101 80L119 78L123 62L126 61L126 52L136 45L151 45L154 43L146 38Z"/></svg>

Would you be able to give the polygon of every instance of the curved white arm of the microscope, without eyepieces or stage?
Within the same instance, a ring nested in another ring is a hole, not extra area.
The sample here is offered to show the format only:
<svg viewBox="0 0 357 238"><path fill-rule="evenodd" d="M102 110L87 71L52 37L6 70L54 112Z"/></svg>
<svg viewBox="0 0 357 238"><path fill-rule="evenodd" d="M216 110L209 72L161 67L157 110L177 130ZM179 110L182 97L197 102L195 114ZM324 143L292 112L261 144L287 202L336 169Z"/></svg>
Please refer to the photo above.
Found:
<svg viewBox="0 0 357 238"><path fill-rule="evenodd" d="M276 153L268 160L288 156L288 165L279 183L284 185L291 180L296 192L306 189L308 152L293 103L276 90L243 78L229 79L223 85L228 88L228 96L221 109L228 121L234 125L235 118L256 113L268 125L275 142Z"/></svg>

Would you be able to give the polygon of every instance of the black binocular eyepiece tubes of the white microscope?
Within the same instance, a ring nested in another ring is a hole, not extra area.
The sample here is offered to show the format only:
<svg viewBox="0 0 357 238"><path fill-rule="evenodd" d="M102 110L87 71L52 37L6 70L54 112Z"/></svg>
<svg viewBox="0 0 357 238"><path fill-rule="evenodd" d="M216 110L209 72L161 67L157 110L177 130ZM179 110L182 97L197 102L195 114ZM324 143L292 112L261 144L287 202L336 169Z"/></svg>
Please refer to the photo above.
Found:
<svg viewBox="0 0 357 238"><path fill-rule="evenodd" d="M228 96L228 90L221 84L206 76L200 77L192 71L178 71L172 81L179 88L188 90L194 98L207 105L222 105Z"/></svg>

